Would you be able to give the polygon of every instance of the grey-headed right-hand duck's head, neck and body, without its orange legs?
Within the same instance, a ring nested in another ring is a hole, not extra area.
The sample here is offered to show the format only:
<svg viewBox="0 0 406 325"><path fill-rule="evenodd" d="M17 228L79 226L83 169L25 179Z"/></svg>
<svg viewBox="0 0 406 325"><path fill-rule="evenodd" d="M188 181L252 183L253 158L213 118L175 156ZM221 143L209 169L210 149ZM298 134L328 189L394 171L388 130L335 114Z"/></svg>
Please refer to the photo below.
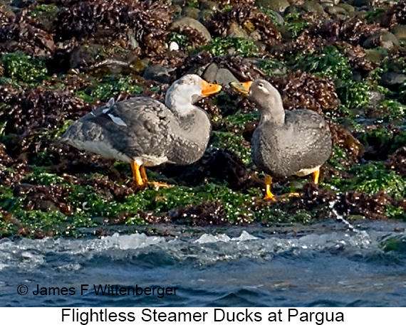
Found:
<svg viewBox="0 0 406 325"><path fill-rule="evenodd" d="M237 89L249 95L261 111L251 139L252 159L259 169L271 176L304 176L326 162L331 133L321 115L311 110L285 112L281 95L266 80L237 84Z"/></svg>

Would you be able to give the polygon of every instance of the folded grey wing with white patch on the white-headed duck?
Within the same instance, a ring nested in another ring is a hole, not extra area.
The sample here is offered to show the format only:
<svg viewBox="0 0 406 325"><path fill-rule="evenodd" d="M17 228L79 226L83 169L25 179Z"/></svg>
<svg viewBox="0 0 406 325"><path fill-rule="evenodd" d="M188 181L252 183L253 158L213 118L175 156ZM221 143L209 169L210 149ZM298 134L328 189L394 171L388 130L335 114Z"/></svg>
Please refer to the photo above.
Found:
<svg viewBox="0 0 406 325"><path fill-rule="evenodd" d="M145 97L97 109L78 122L85 139L105 142L129 157L165 153L176 132L172 112L161 102Z"/></svg>

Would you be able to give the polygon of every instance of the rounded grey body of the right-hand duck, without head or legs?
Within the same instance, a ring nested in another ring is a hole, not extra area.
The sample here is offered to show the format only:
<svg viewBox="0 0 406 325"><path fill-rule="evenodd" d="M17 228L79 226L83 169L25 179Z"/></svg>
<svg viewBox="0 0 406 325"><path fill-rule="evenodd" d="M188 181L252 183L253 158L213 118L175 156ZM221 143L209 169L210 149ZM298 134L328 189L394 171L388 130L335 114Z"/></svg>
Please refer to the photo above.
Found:
<svg viewBox="0 0 406 325"><path fill-rule="evenodd" d="M281 126L261 122L251 144L254 164L273 176L308 174L328 159L332 146L328 124L311 110L286 111Z"/></svg>

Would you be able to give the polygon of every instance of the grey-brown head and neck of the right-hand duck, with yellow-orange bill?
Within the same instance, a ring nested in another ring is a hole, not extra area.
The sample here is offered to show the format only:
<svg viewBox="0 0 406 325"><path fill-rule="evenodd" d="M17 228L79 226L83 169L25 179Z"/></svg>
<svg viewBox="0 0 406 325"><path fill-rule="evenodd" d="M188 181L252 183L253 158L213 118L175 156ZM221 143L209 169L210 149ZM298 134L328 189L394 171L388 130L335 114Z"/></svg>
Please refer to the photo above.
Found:
<svg viewBox="0 0 406 325"><path fill-rule="evenodd" d="M231 86L254 100L259 105L259 110L263 115L273 115L274 119L283 117L281 94L268 81L257 79L247 82L231 82Z"/></svg>

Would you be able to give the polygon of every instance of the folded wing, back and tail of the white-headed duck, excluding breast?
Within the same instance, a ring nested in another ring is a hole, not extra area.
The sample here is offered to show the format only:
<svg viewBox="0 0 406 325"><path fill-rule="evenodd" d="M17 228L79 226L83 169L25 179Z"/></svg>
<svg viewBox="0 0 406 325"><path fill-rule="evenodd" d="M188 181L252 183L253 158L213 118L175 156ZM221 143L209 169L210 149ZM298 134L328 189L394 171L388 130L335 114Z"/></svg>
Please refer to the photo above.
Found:
<svg viewBox="0 0 406 325"><path fill-rule="evenodd" d="M177 118L161 102L132 97L86 114L69 127L61 141L106 158L130 162L150 156L159 160L148 166L165 162L160 160L172 149L178 129Z"/></svg>

